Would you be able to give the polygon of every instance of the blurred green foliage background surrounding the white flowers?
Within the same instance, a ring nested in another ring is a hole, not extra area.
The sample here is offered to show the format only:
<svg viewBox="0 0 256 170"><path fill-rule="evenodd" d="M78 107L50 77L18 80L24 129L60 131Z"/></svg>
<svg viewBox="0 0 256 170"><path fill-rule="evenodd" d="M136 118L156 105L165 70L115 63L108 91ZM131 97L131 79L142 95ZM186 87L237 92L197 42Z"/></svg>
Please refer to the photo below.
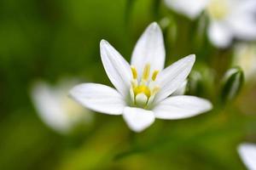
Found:
<svg viewBox="0 0 256 170"><path fill-rule="evenodd" d="M35 80L79 77L111 85L100 40L130 60L152 21L164 30L166 65L196 54L193 71L201 81L188 93L210 99L212 111L157 120L143 133L132 133L121 116L97 113L90 126L66 135L41 121L30 96ZM1 0L0 169L244 169L236 147L256 142L255 81L246 81L236 99L219 102L233 48L213 48L200 22L157 0Z"/></svg>

